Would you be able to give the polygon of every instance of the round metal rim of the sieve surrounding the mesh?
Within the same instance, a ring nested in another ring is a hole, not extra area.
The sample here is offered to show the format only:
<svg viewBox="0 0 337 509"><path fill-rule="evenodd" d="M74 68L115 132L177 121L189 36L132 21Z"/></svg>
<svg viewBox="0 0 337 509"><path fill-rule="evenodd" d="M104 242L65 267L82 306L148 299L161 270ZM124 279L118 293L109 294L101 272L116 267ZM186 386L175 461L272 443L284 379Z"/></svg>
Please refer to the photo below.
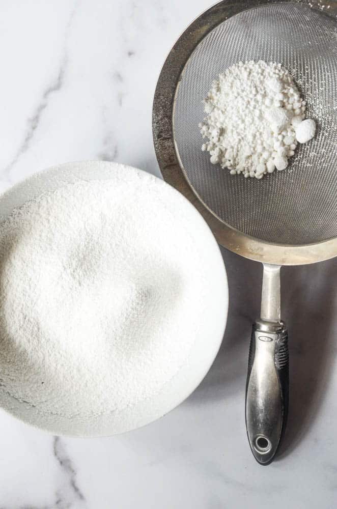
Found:
<svg viewBox="0 0 337 509"><path fill-rule="evenodd" d="M250 237L219 219L189 184L175 148L173 116L175 97L182 72L191 53L218 24L247 9L264 5L293 4L310 7L329 17L337 17L337 0L325 6L320 0L222 0L196 18L177 40L161 69L153 102L154 147L164 180L184 194L202 214L217 242L250 260L278 265L302 265L328 260L337 255L337 238L315 244L274 244Z"/></svg>

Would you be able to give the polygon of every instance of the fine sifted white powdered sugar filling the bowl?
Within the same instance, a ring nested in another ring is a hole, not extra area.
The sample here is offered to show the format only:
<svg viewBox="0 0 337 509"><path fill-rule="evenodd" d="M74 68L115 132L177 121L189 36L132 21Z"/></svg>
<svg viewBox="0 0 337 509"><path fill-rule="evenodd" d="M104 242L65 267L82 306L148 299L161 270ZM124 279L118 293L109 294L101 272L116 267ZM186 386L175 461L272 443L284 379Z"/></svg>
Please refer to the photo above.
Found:
<svg viewBox="0 0 337 509"><path fill-rule="evenodd" d="M205 334L196 317L211 321L206 225L170 186L119 167L0 226L0 390L43 415L151 399Z"/></svg>

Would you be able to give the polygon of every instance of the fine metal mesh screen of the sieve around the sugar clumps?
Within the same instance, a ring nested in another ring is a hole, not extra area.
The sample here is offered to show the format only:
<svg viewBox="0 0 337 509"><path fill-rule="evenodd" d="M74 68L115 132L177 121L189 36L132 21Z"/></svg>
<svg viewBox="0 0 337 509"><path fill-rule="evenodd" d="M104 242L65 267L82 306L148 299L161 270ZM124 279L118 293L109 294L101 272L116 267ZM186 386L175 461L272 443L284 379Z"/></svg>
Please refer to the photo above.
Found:
<svg viewBox="0 0 337 509"><path fill-rule="evenodd" d="M196 47L176 94L174 135L187 178L231 227L267 242L310 244L337 236L337 24L295 4L257 7L221 23ZM203 99L224 69L246 60L285 66L318 124L289 167L263 179L231 176L201 151Z"/></svg>

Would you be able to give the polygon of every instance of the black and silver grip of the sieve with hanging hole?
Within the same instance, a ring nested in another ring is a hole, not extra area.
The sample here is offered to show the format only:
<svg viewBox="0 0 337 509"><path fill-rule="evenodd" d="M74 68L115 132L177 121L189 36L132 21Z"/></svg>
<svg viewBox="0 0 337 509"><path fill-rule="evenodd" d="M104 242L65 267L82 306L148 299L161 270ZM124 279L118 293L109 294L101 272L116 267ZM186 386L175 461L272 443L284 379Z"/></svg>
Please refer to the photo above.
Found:
<svg viewBox="0 0 337 509"><path fill-rule="evenodd" d="M252 330L246 384L246 429L255 459L268 465L288 415L288 333L283 323L257 322Z"/></svg>

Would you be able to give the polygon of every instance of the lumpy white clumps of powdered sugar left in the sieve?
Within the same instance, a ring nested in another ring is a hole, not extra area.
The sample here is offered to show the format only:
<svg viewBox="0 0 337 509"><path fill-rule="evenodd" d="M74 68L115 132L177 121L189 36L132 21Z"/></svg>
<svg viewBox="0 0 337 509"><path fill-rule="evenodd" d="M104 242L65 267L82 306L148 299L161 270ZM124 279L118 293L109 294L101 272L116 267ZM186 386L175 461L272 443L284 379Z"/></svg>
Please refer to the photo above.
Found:
<svg viewBox="0 0 337 509"><path fill-rule="evenodd" d="M231 175L261 179L288 166L297 143L315 134L302 128L306 102L281 64L239 62L214 80L205 99L207 117L200 123L213 164ZM311 121L314 125L315 122ZM308 135L299 135L296 133Z"/></svg>

